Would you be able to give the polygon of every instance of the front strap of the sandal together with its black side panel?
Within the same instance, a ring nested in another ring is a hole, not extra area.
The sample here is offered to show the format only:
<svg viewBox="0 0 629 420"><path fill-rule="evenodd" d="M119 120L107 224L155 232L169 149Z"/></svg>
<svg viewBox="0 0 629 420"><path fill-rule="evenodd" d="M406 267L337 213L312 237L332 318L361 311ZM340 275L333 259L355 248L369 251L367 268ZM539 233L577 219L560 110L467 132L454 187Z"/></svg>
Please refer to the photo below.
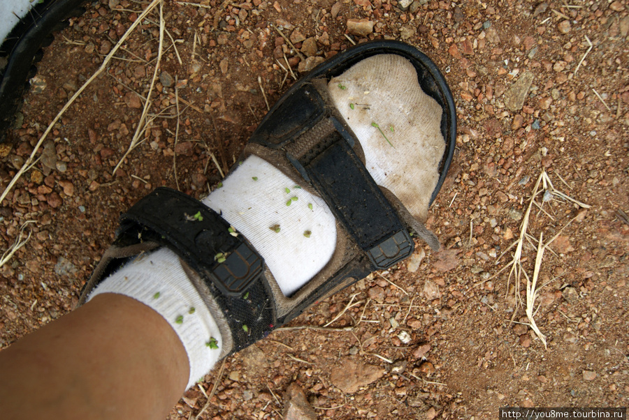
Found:
<svg viewBox="0 0 629 420"><path fill-rule="evenodd" d="M296 112L278 112L279 117L266 124L273 130L262 128L251 141L285 153L367 255L374 270L388 269L410 256L414 243L398 212L354 151L354 133L331 107L326 107L316 85L304 85L289 96L283 110Z"/></svg>

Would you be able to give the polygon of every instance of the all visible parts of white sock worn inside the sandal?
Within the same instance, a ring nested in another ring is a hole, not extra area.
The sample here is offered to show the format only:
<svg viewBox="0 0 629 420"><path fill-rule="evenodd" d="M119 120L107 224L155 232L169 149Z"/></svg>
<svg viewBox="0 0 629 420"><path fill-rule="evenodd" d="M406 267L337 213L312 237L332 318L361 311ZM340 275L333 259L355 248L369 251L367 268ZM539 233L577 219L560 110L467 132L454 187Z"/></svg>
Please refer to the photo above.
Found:
<svg viewBox="0 0 629 420"><path fill-rule="evenodd" d="M439 131L441 108L421 91L412 65L398 56L370 57L332 80L329 88L361 142L372 177L412 214L425 218L444 141ZM295 188L280 170L256 156L247 158L203 203L252 243L284 294L308 283L334 253L335 218L325 202ZM222 347L219 330L173 251L161 249L136 258L104 280L90 299L105 292L138 299L166 318L188 354L188 387L217 361ZM157 292L160 298L153 299ZM187 315L191 307L195 313ZM180 315L182 323L177 322ZM218 349L205 346L208 337L216 338Z"/></svg>

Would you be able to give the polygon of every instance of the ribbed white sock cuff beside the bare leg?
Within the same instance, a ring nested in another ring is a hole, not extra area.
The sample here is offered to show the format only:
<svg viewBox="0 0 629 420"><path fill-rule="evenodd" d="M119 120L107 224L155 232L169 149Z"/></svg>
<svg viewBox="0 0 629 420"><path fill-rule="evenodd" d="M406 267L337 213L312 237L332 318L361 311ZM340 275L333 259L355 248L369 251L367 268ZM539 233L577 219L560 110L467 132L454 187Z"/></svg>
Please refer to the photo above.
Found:
<svg viewBox="0 0 629 420"><path fill-rule="evenodd" d="M190 375L186 389L218 361L222 345L219 328L179 258L168 248L138 255L103 280L87 300L102 293L132 297L164 317L188 356Z"/></svg>

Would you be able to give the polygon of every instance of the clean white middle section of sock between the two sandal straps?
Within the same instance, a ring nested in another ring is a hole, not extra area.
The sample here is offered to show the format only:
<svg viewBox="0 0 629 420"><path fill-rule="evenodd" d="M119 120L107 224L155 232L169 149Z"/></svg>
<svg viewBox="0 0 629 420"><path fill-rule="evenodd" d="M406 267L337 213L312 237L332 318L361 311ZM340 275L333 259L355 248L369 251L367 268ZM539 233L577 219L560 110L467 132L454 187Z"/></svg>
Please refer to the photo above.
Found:
<svg viewBox="0 0 629 420"><path fill-rule="evenodd" d="M290 296L330 260L335 218L324 200L250 156L203 203L247 238Z"/></svg>

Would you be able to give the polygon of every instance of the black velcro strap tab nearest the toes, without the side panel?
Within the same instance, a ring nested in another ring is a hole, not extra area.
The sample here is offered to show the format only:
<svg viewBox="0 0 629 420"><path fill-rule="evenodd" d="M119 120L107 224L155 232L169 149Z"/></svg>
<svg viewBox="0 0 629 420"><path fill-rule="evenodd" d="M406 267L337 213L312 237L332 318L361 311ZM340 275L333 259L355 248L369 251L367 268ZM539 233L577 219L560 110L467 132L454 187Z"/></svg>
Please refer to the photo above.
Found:
<svg viewBox="0 0 629 420"><path fill-rule="evenodd" d="M386 269L408 257L414 243L352 149L353 142L342 124L328 117L285 150L373 265Z"/></svg>

